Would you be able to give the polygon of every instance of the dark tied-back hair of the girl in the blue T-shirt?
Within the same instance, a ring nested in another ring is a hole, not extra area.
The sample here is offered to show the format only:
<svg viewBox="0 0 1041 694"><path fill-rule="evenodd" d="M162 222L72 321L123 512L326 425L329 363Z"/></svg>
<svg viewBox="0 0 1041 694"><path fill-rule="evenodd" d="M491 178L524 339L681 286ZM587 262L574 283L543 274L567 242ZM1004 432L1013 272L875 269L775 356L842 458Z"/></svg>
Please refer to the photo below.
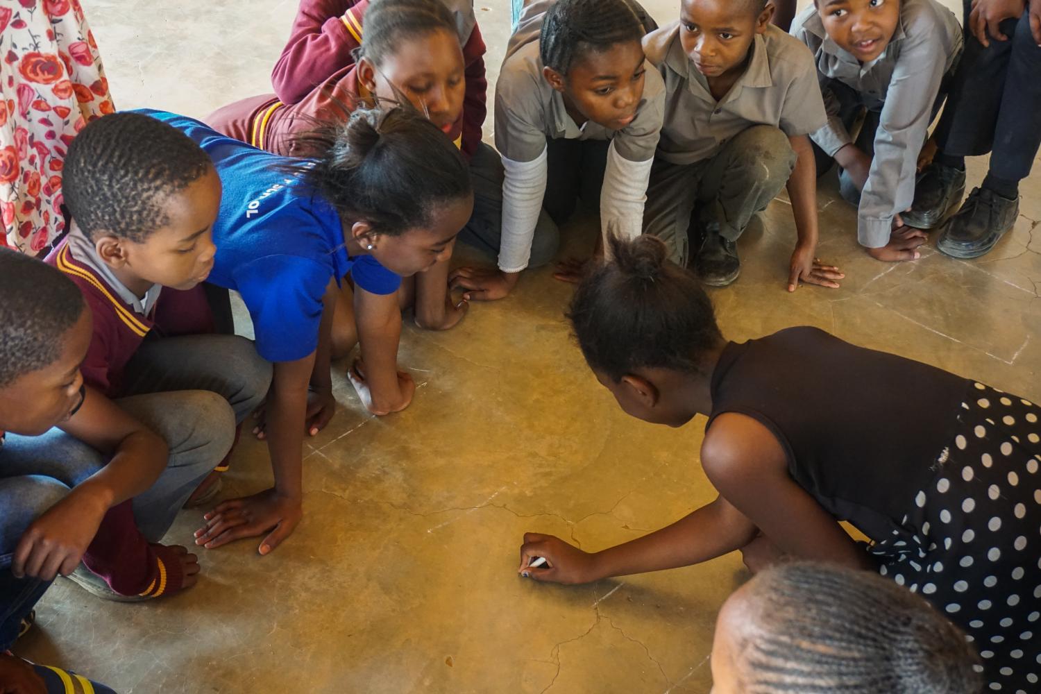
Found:
<svg viewBox="0 0 1041 694"><path fill-rule="evenodd" d="M300 137L321 155L289 164L340 216L389 235L431 224L435 210L472 195L469 168L451 139L411 105L358 108L346 122Z"/></svg>

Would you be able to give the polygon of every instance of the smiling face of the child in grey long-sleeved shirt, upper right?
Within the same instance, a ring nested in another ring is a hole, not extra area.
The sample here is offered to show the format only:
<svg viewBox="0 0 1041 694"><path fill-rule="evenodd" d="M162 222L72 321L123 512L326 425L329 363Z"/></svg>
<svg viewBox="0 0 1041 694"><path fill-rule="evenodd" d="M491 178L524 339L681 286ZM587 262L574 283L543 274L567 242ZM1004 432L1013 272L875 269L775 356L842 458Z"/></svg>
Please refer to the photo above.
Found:
<svg viewBox="0 0 1041 694"><path fill-rule="evenodd" d="M824 30L861 62L882 55L900 20L899 0L816 0Z"/></svg>

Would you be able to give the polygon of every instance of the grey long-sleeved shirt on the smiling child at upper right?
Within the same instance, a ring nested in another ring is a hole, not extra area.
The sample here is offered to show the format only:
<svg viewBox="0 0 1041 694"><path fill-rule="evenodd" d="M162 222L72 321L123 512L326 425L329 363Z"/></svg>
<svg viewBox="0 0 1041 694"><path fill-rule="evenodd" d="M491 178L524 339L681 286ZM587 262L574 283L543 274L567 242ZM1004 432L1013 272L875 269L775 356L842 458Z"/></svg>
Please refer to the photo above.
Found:
<svg viewBox="0 0 1041 694"><path fill-rule="evenodd" d="M943 76L961 55L961 25L937 0L903 0L889 45L864 65L829 37L813 5L795 18L791 32L809 47L816 62L829 114L828 123L812 135L820 149L834 156L853 142L838 117L832 80L856 89L867 108L882 111L857 224L860 242L881 248L889 242L893 216L914 202L918 152Z"/></svg>

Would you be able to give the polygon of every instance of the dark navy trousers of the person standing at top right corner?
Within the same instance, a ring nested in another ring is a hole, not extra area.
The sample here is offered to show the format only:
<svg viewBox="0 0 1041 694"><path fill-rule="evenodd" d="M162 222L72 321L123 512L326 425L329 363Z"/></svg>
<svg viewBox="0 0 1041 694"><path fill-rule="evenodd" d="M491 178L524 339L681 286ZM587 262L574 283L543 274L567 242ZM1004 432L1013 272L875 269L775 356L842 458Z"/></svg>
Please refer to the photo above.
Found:
<svg viewBox="0 0 1041 694"><path fill-rule="evenodd" d="M965 5L965 24L972 9ZM1010 181L1031 173L1041 146L1041 47L1031 34L1030 12L1001 22L1009 41L984 48L966 32L947 106L936 127L937 146L951 156L991 152L990 172Z"/></svg>

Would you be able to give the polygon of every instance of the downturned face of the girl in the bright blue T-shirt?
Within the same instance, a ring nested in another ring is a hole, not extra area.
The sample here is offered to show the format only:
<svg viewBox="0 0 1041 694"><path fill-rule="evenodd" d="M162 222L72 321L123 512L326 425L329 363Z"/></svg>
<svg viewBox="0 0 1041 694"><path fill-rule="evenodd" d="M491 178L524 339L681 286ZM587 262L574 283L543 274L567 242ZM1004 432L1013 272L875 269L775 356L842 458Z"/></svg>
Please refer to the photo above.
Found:
<svg viewBox="0 0 1041 694"><path fill-rule="evenodd" d="M454 200L434 210L429 228L409 229L395 236L375 234L361 240L361 247L372 245L373 257L396 275L409 277L423 273L452 257L456 236L473 212L474 196Z"/></svg>

